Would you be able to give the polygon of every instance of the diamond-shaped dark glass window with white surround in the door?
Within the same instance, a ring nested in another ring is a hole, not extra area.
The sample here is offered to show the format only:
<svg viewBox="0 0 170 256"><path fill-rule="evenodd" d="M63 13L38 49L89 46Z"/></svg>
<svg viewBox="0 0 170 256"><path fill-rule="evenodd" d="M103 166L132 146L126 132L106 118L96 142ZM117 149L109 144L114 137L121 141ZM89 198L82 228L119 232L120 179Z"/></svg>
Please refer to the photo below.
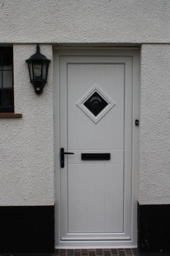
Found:
<svg viewBox="0 0 170 256"><path fill-rule="evenodd" d="M76 105L97 124L115 105L115 102L95 83L92 89L90 89Z"/></svg>

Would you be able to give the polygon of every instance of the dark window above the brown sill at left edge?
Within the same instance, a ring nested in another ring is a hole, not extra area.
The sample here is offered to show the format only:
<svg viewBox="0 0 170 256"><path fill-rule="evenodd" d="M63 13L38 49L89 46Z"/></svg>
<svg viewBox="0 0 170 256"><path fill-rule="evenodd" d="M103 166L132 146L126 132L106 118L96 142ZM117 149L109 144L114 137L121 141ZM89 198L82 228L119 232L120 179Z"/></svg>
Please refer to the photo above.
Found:
<svg viewBox="0 0 170 256"><path fill-rule="evenodd" d="M0 112L14 112L12 47L0 47Z"/></svg>

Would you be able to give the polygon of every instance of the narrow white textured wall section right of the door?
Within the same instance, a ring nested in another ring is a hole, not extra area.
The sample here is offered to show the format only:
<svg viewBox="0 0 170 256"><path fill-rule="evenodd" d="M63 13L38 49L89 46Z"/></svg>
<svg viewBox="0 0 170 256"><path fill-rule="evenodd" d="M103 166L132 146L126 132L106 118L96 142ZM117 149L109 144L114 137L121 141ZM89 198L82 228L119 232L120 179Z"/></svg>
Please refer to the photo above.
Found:
<svg viewBox="0 0 170 256"><path fill-rule="evenodd" d="M140 204L170 204L170 45L142 45Z"/></svg>

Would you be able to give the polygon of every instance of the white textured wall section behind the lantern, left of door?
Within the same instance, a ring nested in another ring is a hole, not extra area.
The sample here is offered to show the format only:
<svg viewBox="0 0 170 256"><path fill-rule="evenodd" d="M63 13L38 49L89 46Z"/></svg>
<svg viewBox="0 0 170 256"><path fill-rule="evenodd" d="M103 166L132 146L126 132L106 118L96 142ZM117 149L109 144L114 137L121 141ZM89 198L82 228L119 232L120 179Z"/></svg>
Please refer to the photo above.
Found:
<svg viewBox="0 0 170 256"><path fill-rule="evenodd" d="M52 60L51 45L40 45ZM54 203L52 63L42 95L29 82L25 60L36 45L14 45L14 101L20 119L0 119L0 205Z"/></svg>

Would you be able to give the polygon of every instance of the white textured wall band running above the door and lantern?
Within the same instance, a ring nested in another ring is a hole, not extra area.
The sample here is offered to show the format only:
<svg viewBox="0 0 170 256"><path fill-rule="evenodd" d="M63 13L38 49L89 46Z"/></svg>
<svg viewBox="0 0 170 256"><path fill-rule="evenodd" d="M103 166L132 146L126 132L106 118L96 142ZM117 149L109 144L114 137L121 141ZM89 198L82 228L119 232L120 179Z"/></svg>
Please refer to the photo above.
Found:
<svg viewBox="0 0 170 256"><path fill-rule="evenodd" d="M0 43L168 43L170 0L2 0Z"/></svg>

